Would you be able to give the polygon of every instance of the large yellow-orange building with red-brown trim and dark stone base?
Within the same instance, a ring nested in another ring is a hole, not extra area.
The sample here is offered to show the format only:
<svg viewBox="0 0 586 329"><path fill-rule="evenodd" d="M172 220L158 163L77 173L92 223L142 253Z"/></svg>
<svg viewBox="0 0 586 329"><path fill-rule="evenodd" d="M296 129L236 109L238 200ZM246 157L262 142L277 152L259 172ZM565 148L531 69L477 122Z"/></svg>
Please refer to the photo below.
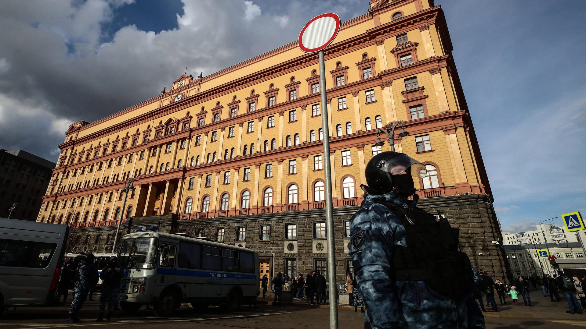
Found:
<svg viewBox="0 0 586 329"><path fill-rule="evenodd" d="M461 228L475 266L507 275L441 7L431 0L369 5L325 49L327 104L320 103L318 55L294 42L210 76L184 74L161 95L71 125L38 220L73 224L80 247L90 250L107 248L103 238L119 220L128 230L144 221L170 232L191 227L257 249L270 273L306 273L325 266L329 156L341 281L351 270L348 220L363 200L364 167L390 150L389 142L374 145L376 133L403 120L410 135L393 143L427 167L428 176L415 181L423 207ZM322 111L330 136L323 136ZM136 190L122 209L130 177Z"/></svg>

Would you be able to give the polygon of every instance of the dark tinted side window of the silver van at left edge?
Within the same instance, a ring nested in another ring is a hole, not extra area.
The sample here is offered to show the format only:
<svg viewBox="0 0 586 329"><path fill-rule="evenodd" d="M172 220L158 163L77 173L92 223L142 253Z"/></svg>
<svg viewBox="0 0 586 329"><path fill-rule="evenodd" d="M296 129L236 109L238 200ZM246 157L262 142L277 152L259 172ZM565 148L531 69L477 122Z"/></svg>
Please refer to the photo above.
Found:
<svg viewBox="0 0 586 329"><path fill-rule="evenodd" d="M0 266L46 268L57 244L0 239Z"/></svg>

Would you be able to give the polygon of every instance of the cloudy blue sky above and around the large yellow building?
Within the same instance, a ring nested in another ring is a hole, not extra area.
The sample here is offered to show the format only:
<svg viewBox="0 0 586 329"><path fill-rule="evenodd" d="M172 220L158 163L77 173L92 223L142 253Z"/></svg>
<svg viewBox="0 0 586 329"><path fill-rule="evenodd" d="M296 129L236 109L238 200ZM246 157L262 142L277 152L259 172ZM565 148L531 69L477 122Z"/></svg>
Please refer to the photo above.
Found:
<svg viewBox="0 0 586 329"><path fill-rule="evenodd" d="M585 210L586 2L435 5L503 230ZM344 21L367 9L367 0L3 2L0 148L56 161L70 124L154 97L185 67L206 76L295 41L320 13Z"/></svg>

